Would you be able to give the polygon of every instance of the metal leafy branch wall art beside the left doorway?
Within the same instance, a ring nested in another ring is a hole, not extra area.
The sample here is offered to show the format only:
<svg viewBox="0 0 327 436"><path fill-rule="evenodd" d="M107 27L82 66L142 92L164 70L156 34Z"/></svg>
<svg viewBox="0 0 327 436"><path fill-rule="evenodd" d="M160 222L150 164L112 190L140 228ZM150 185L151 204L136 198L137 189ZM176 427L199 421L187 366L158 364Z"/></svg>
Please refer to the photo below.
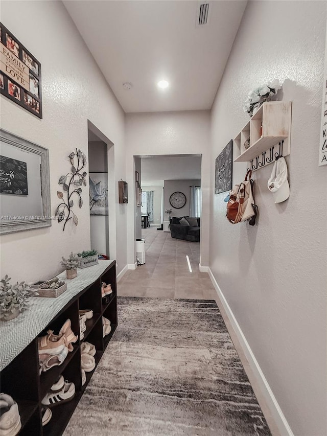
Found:
<svg viewBox="0 0 327 436"><path fill-rule="evenodd" d="M86 156L80 149L77 150L76 148L76 153L72 152L68 157L71 161L72 172L61 176L59 179L58 183L62 185L63 192L57 191L57 196L63 201L59 204L55 212L55 216L58 217L58 222L65 221L63 230L65 230L65 226L70 219L73 219L75 225L78 224L78 218L72 208L76 200L78 201L80 209L83 205L81 186L86 186L87 175L86 171L82 172L86 165ZM75 195L73 196L74 193ZM66 199L64 199L64 197L66 197Z"/></svg>

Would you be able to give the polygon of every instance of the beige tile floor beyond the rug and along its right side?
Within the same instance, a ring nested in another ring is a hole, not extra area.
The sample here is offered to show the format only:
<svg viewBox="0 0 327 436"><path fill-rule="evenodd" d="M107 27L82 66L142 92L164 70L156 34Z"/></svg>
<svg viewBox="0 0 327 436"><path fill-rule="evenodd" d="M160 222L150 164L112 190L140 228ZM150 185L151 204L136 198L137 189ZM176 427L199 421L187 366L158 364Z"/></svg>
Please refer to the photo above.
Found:
<svg viewBox="0 0 327 436"><path fill-rule="evenodd" d="M216 300L272 436L281 436L212 281L206 272L199 272L200 243L174 239L170 232L158 231L157 226L142 229L142 238L146 240L146 263L124 274L117 284L118 295Z"/></svg>

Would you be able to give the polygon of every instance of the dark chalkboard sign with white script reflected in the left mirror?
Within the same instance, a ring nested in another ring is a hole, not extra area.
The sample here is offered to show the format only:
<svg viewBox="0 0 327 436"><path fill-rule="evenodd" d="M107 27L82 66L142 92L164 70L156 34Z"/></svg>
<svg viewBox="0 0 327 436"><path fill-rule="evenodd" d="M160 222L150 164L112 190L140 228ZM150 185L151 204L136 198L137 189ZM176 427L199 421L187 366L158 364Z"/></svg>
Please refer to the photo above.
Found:
<svg viewBox="0 0 327 436"><path fill-rule="evenodd" d="M26 162L0 156L0 192L28 195Z"/></svg>

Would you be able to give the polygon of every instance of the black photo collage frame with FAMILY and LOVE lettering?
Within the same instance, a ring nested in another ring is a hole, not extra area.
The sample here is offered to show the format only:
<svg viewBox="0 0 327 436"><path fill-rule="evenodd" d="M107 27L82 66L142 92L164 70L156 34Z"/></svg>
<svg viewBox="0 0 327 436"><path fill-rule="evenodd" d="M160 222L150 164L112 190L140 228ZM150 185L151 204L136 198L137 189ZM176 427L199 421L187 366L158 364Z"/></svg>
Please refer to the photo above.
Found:
<svg viewBox="0 0 327 436"><path fill-rule="evenodd" d="M41 64L0 23L0 92L42 118Z"/></svg>

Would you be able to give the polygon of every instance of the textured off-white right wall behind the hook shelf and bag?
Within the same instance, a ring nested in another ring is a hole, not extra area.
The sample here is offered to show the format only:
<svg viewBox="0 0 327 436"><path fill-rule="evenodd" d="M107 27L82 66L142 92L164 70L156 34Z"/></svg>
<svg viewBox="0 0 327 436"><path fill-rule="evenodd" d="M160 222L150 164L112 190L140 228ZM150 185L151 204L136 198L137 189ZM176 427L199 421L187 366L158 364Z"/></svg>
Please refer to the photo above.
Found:
<svg viewBox="0 0 327 436"><path fill-rule="evenodd" d="M211 190L210 266L296 436L326 431L326 193L318 167L325 2L249 2L212 111L215 158L248 120L243 103L266 80L293 102L291 195L274 204L272 165L254 173L258 223L231 225ZM233 182L246 164L233 165Z"/></svg>

